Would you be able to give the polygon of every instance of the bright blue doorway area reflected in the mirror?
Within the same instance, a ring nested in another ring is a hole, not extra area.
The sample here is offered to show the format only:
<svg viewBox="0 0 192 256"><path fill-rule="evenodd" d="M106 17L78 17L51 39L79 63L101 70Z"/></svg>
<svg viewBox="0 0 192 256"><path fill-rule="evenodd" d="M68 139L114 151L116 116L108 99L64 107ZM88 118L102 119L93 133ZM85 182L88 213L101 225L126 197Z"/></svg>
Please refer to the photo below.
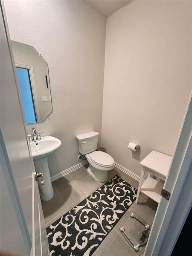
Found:
<svg viewBox="0 0 192 256"><path fill-rule="evenodd" d="M16 70L26 123L35 123L37 122L37 119L35 114L35 105L33 101L29 70L27 68L21 67L16 67Z"/></svg>

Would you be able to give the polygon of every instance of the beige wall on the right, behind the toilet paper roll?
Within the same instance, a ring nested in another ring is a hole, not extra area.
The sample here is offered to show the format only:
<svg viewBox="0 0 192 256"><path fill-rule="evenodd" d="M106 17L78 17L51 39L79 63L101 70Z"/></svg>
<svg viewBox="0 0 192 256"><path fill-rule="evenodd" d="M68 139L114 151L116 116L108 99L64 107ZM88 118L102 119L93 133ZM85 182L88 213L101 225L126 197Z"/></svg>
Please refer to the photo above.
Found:
<svg viewBox="0 0 192 256"><path fill-rule="evenodd" d="M102 147L136 175L150 151L174 152L192 88L191 7L134 1L107 18Z"/></svg>

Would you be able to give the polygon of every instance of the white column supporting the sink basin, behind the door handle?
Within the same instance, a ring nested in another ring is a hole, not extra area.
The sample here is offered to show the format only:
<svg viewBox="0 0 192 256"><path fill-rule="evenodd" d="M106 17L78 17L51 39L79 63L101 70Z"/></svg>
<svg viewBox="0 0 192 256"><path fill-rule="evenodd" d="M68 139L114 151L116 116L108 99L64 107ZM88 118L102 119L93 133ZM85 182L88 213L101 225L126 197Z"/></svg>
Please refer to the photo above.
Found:
<svg viewBox="0 0 192 256"><path fill-rule="evenodd" d="M40 197L43 201L49 201L53 197L53 188L51 183L51 177L49 173L49 166L47 157L34 160L35 171L44 174L44 184L41 184L41 178L38 178L38 187Z"/></svg>

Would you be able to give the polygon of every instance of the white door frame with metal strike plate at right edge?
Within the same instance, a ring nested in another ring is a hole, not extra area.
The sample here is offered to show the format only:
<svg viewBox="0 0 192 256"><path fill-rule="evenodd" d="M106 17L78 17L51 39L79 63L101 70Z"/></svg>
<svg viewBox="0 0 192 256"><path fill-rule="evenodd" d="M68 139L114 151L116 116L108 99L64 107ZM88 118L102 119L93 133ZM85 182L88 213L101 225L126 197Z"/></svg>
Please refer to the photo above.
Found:
<svg viewBox="0 0 192 256"><path fill-rule="evenodd" d="M177 140L177 145L172 158L172 164L169 169L169 174L165 181L164 189L171 193L169 201L161 198L157 207L157 212L151 228L151 233L145 249L144 256L169 256L175 246L177 238L186 220L186 217L191 208L192 201L186 200L185 212L182 215L177 214L175 209L182 206L182 201L178 200L182 196L183 185L188 186L189 194L192 192L190 183L185 183L186 177L189 174L192 164L192 94L189 99L186 114L183 119L182 128ZM177 207L177 208L176 208ZM175 211L175 212L174 212ZM175 221L175 230L170 230L169 224L172 219ZM177 224L177 226L176 226ZM169 236L168 236L169 235ZM167 240L169 238L169 247ZM162 248L165 253L162 253Z"/></svg>

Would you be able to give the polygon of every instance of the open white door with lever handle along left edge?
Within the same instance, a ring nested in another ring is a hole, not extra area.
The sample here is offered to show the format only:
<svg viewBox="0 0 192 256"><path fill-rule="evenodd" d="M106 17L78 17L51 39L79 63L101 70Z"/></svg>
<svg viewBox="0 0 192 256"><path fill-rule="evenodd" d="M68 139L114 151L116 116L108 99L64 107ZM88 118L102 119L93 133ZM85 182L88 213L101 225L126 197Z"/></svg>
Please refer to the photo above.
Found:
<svg viewBox="0 0 192 256"><path fill-rule="evenodd" d="M44 216L2 1L0 7L0 250L18 256L48 256Z"/></svg>

